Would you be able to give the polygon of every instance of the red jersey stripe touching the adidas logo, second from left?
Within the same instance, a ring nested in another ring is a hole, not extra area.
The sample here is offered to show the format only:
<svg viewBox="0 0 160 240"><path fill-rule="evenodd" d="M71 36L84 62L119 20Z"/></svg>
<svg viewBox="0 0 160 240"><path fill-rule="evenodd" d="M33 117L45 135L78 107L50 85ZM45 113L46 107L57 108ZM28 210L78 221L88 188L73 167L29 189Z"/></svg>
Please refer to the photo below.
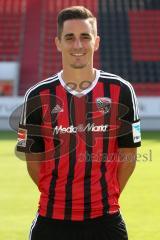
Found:
<svg viewBox="0 0 160 240"><path fill-rule="evenodd" d="M56 97L58 99L57 104L63 108L63 112L58 113L58 126L62 125L63 127L69 126L68 121L68 105L67 105L67 96L65 89L59 85L56 87ZM65 116L65 117L64 117ZM55 200L54 200L54 210L53 218L64 218L64 208L65 208L65 186L67 182L67 175L69 170L69 139L67 140L68 133L59 134L61 141L60 149L60 159L58 164L58 178L56 181L55 189ZM67 151L66 151L67 150Z"/></svg>

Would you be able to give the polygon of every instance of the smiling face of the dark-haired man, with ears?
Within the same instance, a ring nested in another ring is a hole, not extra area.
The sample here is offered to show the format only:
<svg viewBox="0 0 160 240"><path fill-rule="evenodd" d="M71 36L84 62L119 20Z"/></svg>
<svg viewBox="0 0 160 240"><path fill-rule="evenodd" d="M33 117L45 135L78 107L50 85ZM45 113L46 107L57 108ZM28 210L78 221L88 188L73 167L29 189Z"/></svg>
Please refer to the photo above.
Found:
<svg viewBox="0 0 160 240"><path fill-rule="evenodd" d="M65 21L61 39L56 37L55 42L62 53L63 67L82 69L93 66L93 54L99 47L99 37L88 19Z"/></svg>

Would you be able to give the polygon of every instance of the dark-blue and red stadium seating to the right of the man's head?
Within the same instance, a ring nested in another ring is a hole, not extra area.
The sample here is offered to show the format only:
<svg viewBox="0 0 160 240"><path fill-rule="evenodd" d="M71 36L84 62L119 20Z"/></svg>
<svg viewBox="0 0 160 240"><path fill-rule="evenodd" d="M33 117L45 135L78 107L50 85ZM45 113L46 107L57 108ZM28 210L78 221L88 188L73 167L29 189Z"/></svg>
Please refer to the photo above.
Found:
<svg viewBox="0 0 160 240"><path fill-rule="evenodd" d="M102 68L130 80L138 95L160 95L159 5L144 0L99 3Z"/></svg>

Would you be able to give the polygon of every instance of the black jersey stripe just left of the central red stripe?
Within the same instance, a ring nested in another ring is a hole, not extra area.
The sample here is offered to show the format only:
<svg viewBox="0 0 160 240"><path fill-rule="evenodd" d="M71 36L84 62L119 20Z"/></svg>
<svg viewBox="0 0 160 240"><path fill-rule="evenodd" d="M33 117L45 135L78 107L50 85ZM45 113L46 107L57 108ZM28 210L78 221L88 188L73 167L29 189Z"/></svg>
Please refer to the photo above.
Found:
<svg viewBox="0 0 160 240"><path fill-rule="evenodd" d="M74 97L67 93L69 126L75 126L75 103ZM70 133L69 140L69 172L66 183L65 215L64 219L71 220L72 217L72 182L76 164L76 133Z"/></svg>

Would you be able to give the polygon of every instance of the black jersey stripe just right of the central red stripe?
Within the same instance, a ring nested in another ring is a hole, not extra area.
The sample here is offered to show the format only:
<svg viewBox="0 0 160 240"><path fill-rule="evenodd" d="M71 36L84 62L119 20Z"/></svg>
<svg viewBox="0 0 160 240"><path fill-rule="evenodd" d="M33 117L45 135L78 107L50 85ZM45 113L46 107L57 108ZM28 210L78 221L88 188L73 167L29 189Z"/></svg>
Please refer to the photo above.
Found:
<svg viewBox="0 0 160 240"><path fill-rule="evenodd" d="M86 125L92 124L92 92L86 99ZM89 157L89 158L88 158ZM92 170L92 132L86 132L86 165L84 176L84 219L91 214L91 170Z"/></svg>

